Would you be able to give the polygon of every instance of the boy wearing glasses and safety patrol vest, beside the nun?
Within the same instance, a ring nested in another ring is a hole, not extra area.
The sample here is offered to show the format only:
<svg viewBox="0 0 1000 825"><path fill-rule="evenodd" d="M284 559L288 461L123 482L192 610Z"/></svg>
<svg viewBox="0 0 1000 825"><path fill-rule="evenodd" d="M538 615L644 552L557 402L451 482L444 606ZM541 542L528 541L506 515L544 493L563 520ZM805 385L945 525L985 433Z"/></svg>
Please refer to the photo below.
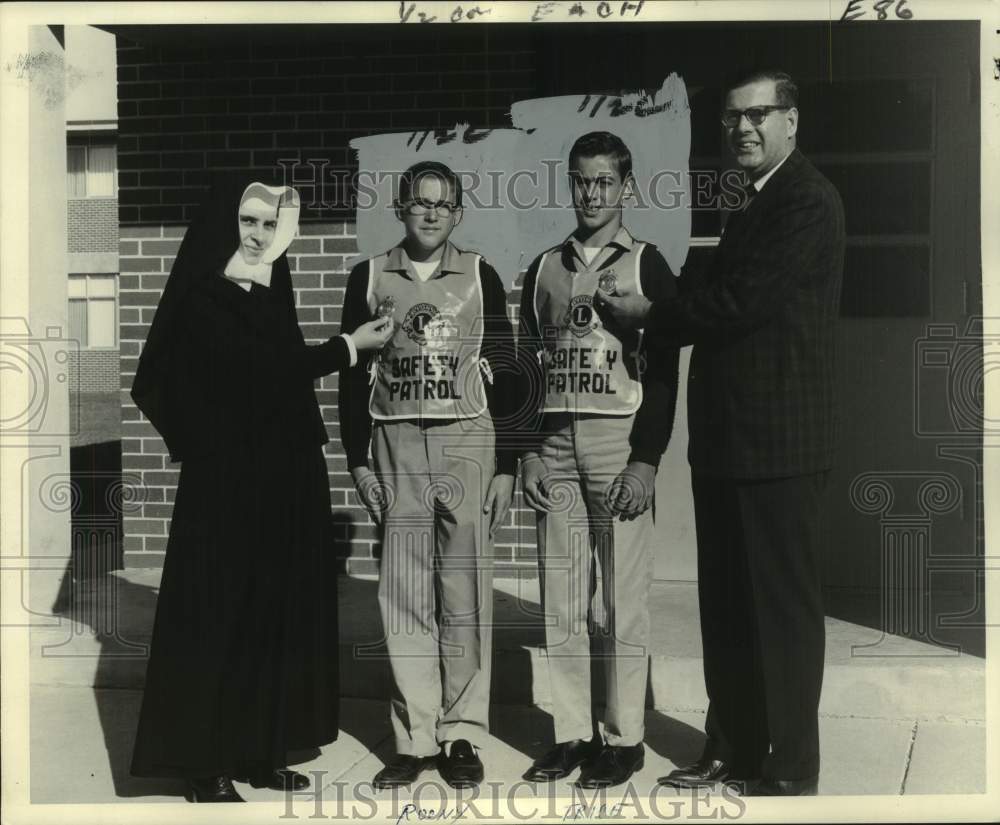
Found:
<svg viewBox="0 0 1000 825"><path fill-rule="evenodd" d="M374 785L408 785L436 762L450 785L470 787L489 732L491 539L510 507L510 407L523 391L503 284L448 240L462 219L458 176L437 162L410 167L395 210L406 236L354 267L342 322L349 332L391 317L395 332L341 373L339 402L348 467L382 527L397 756Z"/></svg>

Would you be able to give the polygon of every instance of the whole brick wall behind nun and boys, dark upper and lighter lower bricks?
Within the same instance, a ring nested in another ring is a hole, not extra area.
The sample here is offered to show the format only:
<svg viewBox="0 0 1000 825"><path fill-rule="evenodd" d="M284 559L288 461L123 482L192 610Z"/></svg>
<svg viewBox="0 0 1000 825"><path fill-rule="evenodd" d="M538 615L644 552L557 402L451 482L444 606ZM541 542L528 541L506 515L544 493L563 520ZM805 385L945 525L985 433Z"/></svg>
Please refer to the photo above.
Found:
<svg viewBox="0 0 1000 825"><path fill-rule="evenodd" d="M119 36L122 469L139 474L145 502L125 517L127 566L162 563L178 478L178 465L169 463L128 390L210 171L272 170L291 158L350 169L348 143L355 137L461 121L507 126L511 103L537 91L529 37L524 29L416 35L350 27L285 43L229 34L208 47ZM318 343L339 330L346 262L357 254L355 216L340 203L304 209L302 218L290 263L299 323L306 340ZM511 305L517 300L512 295ZM326 457L338 552L349 557L349 571L374 572L377 535L347 472L335 376L317 384L317 396L331 439ZM533 515L518 502L497 536L504 569L533 569L534 540Z"/></svg>

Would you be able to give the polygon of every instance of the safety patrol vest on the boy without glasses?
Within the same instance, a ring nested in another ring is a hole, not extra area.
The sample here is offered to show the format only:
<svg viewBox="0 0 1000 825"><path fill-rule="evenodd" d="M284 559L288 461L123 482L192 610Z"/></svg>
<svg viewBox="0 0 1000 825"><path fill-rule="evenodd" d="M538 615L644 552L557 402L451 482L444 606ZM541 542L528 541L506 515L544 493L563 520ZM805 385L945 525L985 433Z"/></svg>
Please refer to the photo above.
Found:
<svg viewBox="0 0 1000 825"><path fill-rule="evenodd" d="M568 244L544 253L535 281L535 317L542 340L544 412L630 415L642 403L638 362L642 330L612 331L593 306L601 278L618 295L642 294L639 259L646 244L621 254L597 253L590 266Z"/></svg>

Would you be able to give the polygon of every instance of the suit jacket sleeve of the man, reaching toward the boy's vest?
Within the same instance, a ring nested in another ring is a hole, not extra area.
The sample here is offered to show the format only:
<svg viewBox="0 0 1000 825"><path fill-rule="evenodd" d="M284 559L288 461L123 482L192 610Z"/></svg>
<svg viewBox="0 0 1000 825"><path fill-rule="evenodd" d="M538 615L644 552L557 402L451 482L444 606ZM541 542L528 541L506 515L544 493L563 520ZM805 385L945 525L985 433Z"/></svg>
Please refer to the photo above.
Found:
<svg viewBox="0 0 1000 825"><path fill-rule="evenodd" d="M740 338L775 317L795 289L803 262L815 260L825 243L824 228L835 217L835 204L818 183L804 182L782 194L754 242L745 244L725 271L653 303L648 332L684 346Z"/></svg>

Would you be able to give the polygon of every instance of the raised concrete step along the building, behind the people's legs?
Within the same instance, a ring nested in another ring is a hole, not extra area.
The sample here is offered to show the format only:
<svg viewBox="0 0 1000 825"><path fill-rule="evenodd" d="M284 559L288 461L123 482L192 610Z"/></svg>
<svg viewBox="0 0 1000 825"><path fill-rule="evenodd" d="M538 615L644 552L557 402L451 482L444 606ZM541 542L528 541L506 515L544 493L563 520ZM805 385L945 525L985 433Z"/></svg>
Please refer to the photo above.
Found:
<svg viewBox="0 0 1000 825"><path fill-rule="evenodd" d="M116 571L68 594L61 620L31 631L31 681L39 685L141 688L159 570ZM341 694L385 700L389 669L377 582L341 577ZM704 711L697 588L654 582L647 706ZM536 580L503 579L494 592L493 701L549 704ZM42 619L40 619L42 621ZM820 712L882 719L985 719L984 660L827 618ZM601 680L595 672L595 701Z"/></svg>

